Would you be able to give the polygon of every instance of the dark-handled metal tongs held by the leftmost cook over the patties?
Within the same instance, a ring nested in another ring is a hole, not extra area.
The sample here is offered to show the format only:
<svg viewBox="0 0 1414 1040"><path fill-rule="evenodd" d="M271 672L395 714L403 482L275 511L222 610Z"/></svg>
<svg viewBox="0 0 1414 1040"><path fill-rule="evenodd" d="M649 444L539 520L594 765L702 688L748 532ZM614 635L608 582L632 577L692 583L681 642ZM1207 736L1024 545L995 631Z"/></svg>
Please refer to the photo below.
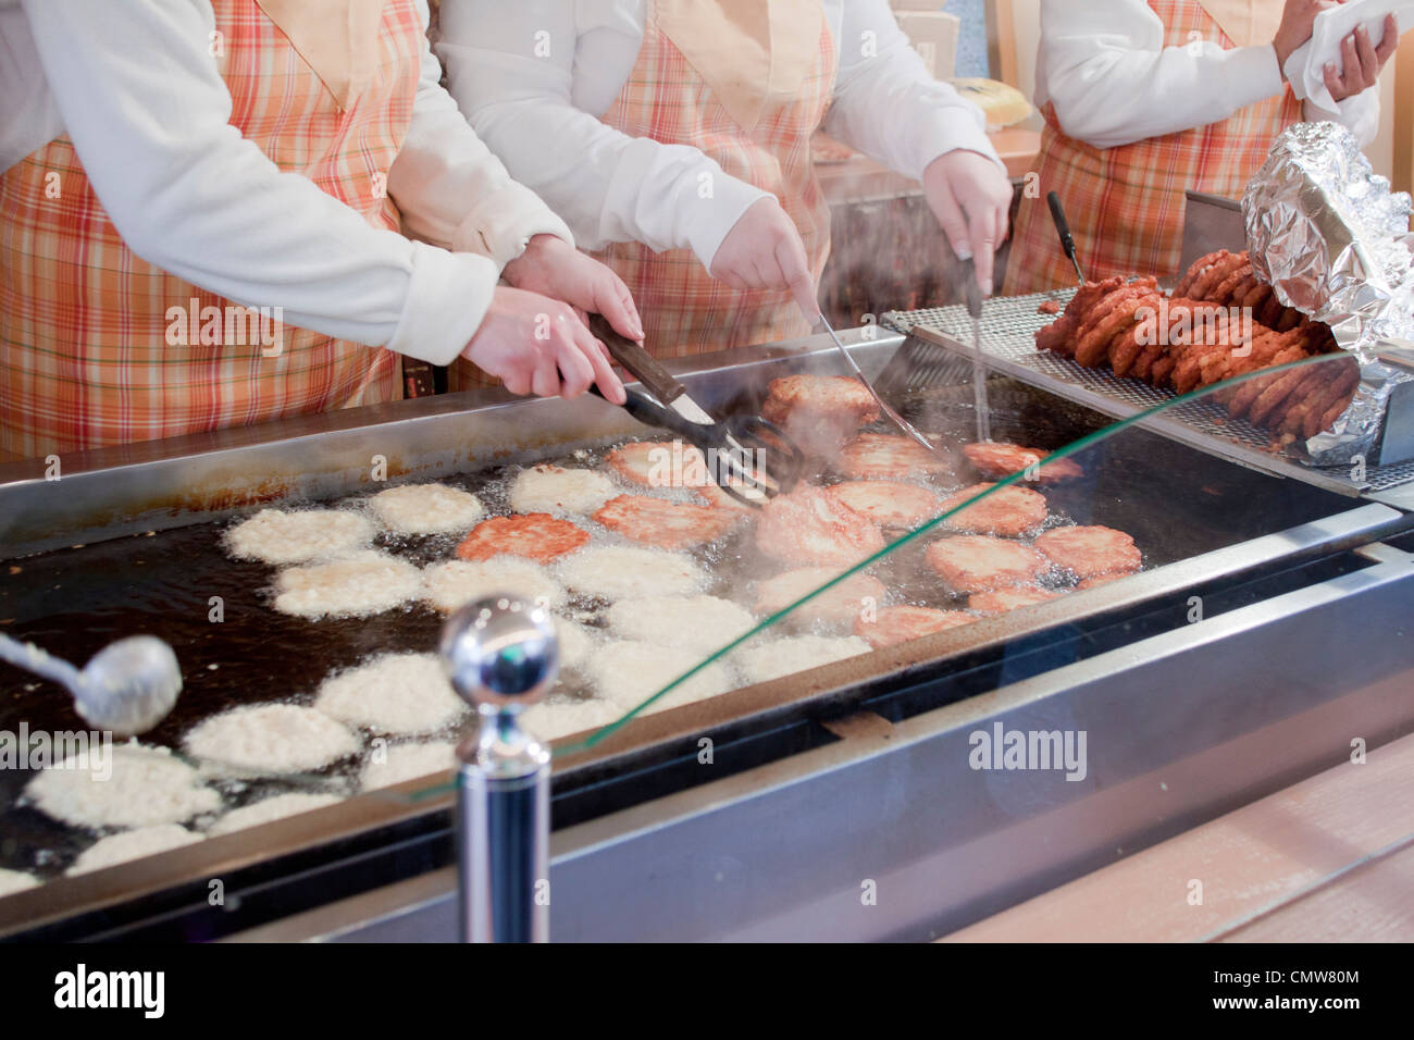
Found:
<svg viewBox="0 0 1414 1040"><path fill-rule="evenodd" d="M747 415L718 422L652 354L615 333L598 314L590 317L590 331L653 395L625 386L624 410L645 426L676 433L701 451L713 483L728 495L759 509L768 498L788 494L800 483L805 453L779 426ZM604 396L598 386L592 391Z"/></svg>

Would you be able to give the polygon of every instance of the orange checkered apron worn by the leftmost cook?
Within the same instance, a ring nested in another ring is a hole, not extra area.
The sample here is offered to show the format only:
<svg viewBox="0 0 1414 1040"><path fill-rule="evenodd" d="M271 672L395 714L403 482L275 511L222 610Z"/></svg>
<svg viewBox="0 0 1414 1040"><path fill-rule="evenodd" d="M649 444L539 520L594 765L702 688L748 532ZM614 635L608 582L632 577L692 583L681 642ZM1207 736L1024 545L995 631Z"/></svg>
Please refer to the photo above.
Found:
<svg viewBox="0 0 1414 1040"><path fill-rule="evenodd" d="M344 110L255 0L212 7L230 125L283 171L396 231L383 185L417 92L413 0L383 4L378 72ZM395 354L252 318L136 256L66 136L0 177L0 453L34 457L399 396ZM279 331L279 347L255 327Z"/></svg>

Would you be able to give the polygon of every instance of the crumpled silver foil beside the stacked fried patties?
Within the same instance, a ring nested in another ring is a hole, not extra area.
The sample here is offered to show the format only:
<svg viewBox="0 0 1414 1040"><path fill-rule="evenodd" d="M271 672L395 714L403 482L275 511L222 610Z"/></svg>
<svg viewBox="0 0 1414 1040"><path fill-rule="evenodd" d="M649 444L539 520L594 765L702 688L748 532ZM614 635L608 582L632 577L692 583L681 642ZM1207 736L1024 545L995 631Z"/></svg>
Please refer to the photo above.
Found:
<svg viewBox="0 0 1414 1040"><path fill-rule="evenodd" d="M1360 385L1335 427L1292 446L1315 466L1370 458L1390 396L1414 381L1414 372L1376 357L1414 361L1411 209L1410 197L1390 191L1339 123L1290 127L1247 184L1253 270L1285 306L1331 325L1360 362Z"/></svg>

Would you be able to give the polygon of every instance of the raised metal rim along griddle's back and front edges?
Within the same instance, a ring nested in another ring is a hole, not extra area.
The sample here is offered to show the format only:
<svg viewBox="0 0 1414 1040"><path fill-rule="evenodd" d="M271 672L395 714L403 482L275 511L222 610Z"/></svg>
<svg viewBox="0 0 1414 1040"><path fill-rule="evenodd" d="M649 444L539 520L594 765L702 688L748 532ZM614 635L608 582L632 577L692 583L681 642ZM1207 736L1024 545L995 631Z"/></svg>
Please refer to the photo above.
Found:
<svg viewBox="0 0 1414 1040"><path fill-rule="evenodd" d="M870 375L877 375L904 341L901 335L880 334L878 330L868 328L846 333L844 338ZM775 366L833 374L837 365L839 358L829 340L812 337L759 348L749 352L749 357L744 357L744 352L707 357L697 359L696 365L677 368L694 396L713 408L723 388L737 385L742 368L756 368L758 375L764 376L778 374L772 371ZM529 422L527 415L533 416ZM482 423L482 427L478 437L468 439L460 424L472 420ZM81 536L119 536L212 519L242 507L288 495L346 494L356 488L370 451L387 458L390 477L434 477L513 461L523 453L550 447L563 453L575 443L595 443L605 436L641 430L622 413L594 400L508 402L505 395L491 391L402 402L240 432L75 456L65 460L62 480L71 483L71 487L65 495L65 507L58 512L52 502L54 488L45 487L47 481L38 475L42 463L7 464L0 467L0 480L20 480L0 484L0 556L10 555L4 552L6 538L17 536L16 532L30 539L24 543L28 552L38 552L52 545L69 545ZM269 468L253 473L253 468L259 468L257 464ZM51 499L47 509L40 508L44 498ZM136 512L124 511L124 501L141 504L143 508ZM62 526L65 518L71 522L66 529ZM89 521L88 525L82 524L83 518ZM95 529L95 518L107 519L107 524ZM40 535L45 519L57 522L57 535ZM683 737L696 737L704 729L769 723L807 710L843 713L857 699L851 695L868 683L891 678L906 679L943 666L957 654L1003 647L1012 640L1053 628L1077 617L1077 603L1087 607L1083 617L1097 617L1263 563L1338 552L1411 526L1414 518L1387 507L1353 507L1318 524L1172 563L1123 583L1077 593L1065 601L1041 604L1021 616L980 621L967 627L966 637L963 630L939 632L854 661L734 691L706 702L710 706L707 710L704 705L691 706L696 709L691 726L682 722L690 709L639 719L611 736L594 753L557 761L557 771L602 773L632 765L655 749ZM175 884L229 876L274 852L311 850L351 833L368 832L409 815L440 812L445 807L445 799L430 799L410 808L396 798L370 792L305 814L298 821L277 821L242 832L233 836L236 842L208 840L126 869L96 872L83 879L58 879L0 903L0 908L7 911L0 918L0 935L92 913ZM235 853L235 848L240 848L240 852Z"/></svg>

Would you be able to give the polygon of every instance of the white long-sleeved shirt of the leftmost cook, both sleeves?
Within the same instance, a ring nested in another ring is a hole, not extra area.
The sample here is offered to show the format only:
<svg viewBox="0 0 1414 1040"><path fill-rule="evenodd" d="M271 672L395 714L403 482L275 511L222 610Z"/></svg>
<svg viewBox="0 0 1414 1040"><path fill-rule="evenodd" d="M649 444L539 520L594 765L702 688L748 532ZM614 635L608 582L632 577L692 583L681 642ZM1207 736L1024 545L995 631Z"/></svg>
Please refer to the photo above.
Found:
<svg viewBox="0 0 1414 1040"><path fill-rule="evenodd" d="M427 3L419 0L423 24ZM68 133L129 248L245 306L450 364L501 267L568 228L481 143L424 45L387 188L416 242L281 173L229 126L209 0L0 0L0 170Z"/></svg>

